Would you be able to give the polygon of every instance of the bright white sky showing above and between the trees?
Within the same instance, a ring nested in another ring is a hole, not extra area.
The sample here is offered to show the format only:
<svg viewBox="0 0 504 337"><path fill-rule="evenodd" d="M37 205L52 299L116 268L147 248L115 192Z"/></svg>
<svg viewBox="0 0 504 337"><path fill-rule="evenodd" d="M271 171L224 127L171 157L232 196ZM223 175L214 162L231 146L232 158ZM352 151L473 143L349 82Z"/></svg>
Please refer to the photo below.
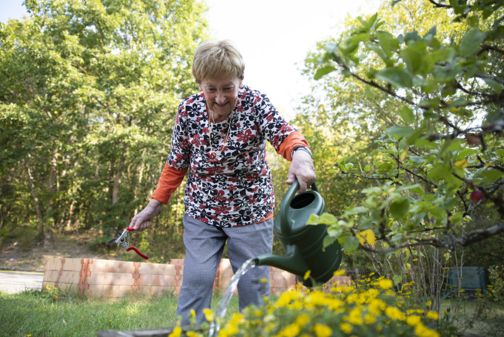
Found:
<svg viewBox="0 0 504 337"><path fill-rule="evenodd" d="M22 19L23 0L0 0L0 22ZM380 0L206 0L210 34L233 40L245 61L243 84L265 93L286 118L309 94L301 75L318 41L347 15L370 14Z"/></svg>

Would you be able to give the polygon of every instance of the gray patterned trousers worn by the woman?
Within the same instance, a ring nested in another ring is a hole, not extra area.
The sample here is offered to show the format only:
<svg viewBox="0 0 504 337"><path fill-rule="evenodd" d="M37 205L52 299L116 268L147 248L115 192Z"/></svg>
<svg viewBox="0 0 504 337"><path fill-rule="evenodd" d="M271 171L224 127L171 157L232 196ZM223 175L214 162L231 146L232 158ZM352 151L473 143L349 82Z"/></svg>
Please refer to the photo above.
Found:
<svg viewBox="0 0 504 337"><path fill-rule="evenodd" d="M248 259L271 254L273 248L273 218L246 226L217 228L184 214L185 259L182 286L177 303L181 325L189 323L191 309L196 311L196 323L205 320L203 309L210 308L215 273L227 240L229 261L233 272ZM258 282L266 278L267 283ZM249 304L261 305L270 294L270 267L258 266L244 273L238 282L240 312Z"/></svg>

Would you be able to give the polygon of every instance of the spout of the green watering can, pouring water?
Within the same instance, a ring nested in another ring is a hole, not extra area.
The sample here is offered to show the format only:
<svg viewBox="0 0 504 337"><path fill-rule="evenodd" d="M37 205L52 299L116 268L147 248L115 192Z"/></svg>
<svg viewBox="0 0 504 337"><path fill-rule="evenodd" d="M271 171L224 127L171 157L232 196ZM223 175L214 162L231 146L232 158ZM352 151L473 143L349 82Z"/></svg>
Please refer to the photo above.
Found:
<svg viewBox="0 0 504 337"><path fill-rule="evenodd" d="M299 247L295 245L287 245L285 255L263 254L256 257L254 262L256 265L270 265L296 275L304 275L308 271Z"/></svg>

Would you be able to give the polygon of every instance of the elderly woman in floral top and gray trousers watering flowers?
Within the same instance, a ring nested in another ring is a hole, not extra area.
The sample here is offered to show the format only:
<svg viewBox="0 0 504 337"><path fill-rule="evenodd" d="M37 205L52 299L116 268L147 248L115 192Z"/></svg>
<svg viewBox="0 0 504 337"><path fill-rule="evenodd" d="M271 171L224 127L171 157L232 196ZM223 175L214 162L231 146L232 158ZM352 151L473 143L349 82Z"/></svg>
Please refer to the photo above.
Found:
<svg viewBox="0 0 504 337"><path fill-rule="evenodd" d="M200 92L178 106L171 150L152 199L131 221L143 231L189 171L184 190L184 277L177 317L192 309L198 323L210 307L215 272L227 240L233 271L271 253L275 192L266 141L291 161L286 184L299 191L315 180L311 151L268 97L242 84L244 63L229 40L205 41L195 51L193 75ZM250 269L238 283L240 311L269 295L270 268Z"/></svg>

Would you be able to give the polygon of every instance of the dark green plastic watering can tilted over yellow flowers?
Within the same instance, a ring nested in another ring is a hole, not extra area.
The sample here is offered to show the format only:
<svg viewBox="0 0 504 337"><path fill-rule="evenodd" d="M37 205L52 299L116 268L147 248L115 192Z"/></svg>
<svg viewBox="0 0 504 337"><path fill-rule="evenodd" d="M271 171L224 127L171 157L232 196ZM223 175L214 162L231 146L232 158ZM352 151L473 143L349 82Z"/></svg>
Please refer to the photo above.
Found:
<svg viewBox="0 0 504 337"><path fill-rule="evenodd" d="M296 195L297 180L290 186L275 219L274 232L282 242L285 255L263 254L254 259L256 265L270 265L297 276L306 287L326 283L341 263L341 247L338 242L323 249L327 226L306 225L312 213L326 212L326 203L313 182L311 191ZM306 271L310 277L303 279ZM314 283L314 284L313 284Z"/></svg>

